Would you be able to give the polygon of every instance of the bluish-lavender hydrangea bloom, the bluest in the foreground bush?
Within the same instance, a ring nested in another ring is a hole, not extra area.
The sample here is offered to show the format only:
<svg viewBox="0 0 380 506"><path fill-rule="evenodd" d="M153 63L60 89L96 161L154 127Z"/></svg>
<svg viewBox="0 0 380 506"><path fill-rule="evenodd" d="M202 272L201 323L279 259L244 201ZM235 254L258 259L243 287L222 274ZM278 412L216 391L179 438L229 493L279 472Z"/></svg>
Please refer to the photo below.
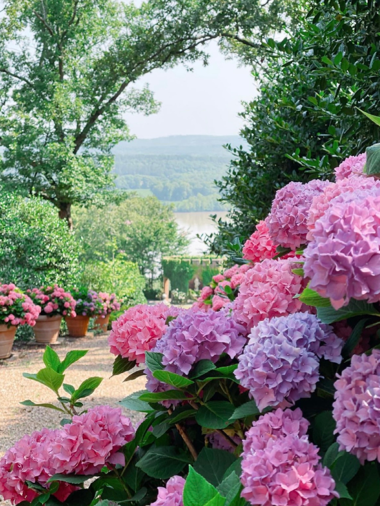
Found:
<svg viewBox="0 0 380 506"><path fill-rule="evenodd" d="M340 363L343 341L310 313L265 319L249 335L235 375L260 411L310 397L319 381L319 359Z"/></svg>

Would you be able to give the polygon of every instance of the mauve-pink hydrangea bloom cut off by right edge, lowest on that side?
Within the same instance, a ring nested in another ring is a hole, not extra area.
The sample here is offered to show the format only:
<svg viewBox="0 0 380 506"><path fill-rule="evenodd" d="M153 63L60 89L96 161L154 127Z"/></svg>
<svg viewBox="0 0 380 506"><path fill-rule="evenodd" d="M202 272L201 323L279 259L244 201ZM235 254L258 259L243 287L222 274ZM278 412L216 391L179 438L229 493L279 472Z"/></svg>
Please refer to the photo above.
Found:
<svg viewBox="0 0 380 506"><path fill-rule="evenodd" d="M380 462L380 350L354 355L337 375L332 416L340 450Z"/></svg>

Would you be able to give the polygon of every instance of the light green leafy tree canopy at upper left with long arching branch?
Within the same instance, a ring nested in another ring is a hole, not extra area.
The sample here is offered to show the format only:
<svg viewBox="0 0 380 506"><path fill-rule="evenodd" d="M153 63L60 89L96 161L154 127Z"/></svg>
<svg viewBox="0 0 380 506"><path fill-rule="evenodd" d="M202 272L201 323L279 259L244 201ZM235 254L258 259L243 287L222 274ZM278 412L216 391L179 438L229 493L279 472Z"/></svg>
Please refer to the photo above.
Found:
<svg viewBox="0 0 380 506"><path fill-rule="evenodd" d="M156 68L191 65L227 39L261 47L281 29L281 0L6 0L0 21L0 170L71 224L72 204L110 188L110 149L130 133L123 113L159 104L133 83ZM285 5L287 3L285 2ZM17 48L17 49L15 49Z"/></svg>

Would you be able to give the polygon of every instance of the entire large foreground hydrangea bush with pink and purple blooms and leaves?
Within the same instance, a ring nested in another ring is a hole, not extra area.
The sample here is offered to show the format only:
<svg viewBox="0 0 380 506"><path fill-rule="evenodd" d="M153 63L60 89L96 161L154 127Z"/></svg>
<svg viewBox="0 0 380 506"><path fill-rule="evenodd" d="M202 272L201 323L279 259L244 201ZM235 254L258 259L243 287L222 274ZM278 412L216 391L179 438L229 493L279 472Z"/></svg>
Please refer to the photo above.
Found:
<svg viewBox="0 0 380 506"><path fill-rule="evenodd" d="M113 375L145 378L121 401L135 427L120 408L86 410L101 378L64 383L86 352L47 347L26 377L57 396L43 405L62 427L6 452L0 494L22 506L378 506L380 167L364 161L279 190L246 263L194 307L138 305L113 322Z"/></svg>

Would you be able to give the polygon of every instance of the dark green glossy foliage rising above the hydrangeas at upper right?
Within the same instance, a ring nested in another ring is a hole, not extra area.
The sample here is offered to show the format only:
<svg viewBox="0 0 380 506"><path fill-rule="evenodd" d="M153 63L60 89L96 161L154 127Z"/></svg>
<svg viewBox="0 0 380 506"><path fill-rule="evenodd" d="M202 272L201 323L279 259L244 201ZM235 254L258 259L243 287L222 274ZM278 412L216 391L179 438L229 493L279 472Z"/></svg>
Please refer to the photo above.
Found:
<svg viewBox="0 0 380 506"><path fill-rule="evenodd" d="M242 113L250 149L231 148L229 173L217 183L234 210L209 240L216 252L250 235L277 188L330 177L343 158L380 140L377 126L356 109L380 109L379 3L311 4L296 31L279 43L268 40L260 94Z"/></svg>

